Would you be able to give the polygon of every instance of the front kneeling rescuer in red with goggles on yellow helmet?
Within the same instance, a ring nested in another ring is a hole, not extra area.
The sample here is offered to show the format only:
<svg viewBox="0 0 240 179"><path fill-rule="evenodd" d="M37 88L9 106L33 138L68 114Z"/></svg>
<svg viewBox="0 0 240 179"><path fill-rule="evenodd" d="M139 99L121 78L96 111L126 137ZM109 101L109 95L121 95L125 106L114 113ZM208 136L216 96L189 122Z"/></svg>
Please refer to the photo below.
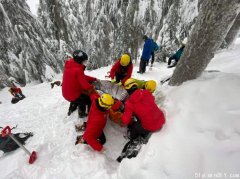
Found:
<svg viewBox="0 0 240 179"><path fill-rule="evenodd" d="M83 143L90 145L94 150L103 152L103 144L106 137L103 129L107 122L107 114L114 104L114 99L110 94L91 95L92 105L89 111L86 130L83 136L78 137L76 144Z"/></svg>

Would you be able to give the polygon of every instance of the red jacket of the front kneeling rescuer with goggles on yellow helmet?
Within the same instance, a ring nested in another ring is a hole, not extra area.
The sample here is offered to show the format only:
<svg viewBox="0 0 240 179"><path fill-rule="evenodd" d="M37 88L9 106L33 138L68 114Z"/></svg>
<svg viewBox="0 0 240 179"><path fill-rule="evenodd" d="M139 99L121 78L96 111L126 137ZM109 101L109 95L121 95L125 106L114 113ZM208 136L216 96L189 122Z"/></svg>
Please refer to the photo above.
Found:
<svg viewBox="0 0 240 179"><path fill-rule="evenodd" d="M103 132L107 122L107 113L97 108L96 100L99 96L92 98L92 105L88 115L87 127L83 138L94 150L101 151L103 146L98 142L98 138Z"/></svg>

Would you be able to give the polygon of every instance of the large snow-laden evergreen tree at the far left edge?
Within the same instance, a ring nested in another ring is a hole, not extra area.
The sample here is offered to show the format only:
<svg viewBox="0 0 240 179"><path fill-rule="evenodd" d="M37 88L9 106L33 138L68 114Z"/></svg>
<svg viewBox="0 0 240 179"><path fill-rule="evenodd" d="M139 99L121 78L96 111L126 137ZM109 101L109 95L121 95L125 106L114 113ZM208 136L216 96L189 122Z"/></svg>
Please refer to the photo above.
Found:
<svg viewBox="0 0 240 179"><path fill-rule="evenodd" d="M46 68L60 72L46 43L46 29L32 15L25 0L0 1L0 71L21 85L45 81Z"/></svg>

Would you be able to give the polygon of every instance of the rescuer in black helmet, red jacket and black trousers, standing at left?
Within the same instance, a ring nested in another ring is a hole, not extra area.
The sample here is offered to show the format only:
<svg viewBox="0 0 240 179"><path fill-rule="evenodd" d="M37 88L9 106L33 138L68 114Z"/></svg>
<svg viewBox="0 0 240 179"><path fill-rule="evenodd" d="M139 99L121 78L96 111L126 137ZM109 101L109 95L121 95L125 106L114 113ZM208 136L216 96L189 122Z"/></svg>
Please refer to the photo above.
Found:
<svg viewBox="0 0 240 179"><path fill-rule="evenodd" d="M97 79L84 74L88 56L82 50L75 50L73 58L65 62L62 80L62 95L70 102L68 115L78 107L79 117L85 117L86 106L90 109L89 95L97 93L91 84Z"/></svg>

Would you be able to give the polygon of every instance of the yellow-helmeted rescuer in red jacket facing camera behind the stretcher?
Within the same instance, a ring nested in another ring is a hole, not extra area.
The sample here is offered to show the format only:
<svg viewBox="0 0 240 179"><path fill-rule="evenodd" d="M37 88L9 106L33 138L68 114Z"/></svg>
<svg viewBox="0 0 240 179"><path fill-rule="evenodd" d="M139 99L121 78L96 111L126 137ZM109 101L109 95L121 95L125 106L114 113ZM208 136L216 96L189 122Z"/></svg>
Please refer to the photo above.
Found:
<svg viewBox="0 0 240 179"><path fill-rule="evenodd" d="M121 86L128 78L131 78L132 71L133 64L131 57L128 54L123 54L112 66L109 76L113 83L116 82Z"/></svg>

